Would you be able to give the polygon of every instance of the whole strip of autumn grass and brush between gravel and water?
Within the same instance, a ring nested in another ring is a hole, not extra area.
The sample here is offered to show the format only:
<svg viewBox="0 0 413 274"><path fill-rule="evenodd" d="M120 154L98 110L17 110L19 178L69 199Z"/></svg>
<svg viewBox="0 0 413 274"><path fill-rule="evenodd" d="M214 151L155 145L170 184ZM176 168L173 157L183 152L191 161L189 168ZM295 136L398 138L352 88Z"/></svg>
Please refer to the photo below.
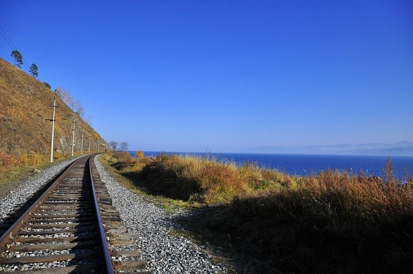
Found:
<svg viewBox="0 0 413 274"><path fill-rule="evenodd" d="M413 187L327 170L289 176L209 157L112 159L150 194L181 199L200 214L192 235L226 248L244 271L404 272L412 267ZM391 169L391 168L390 168Z"/></svg>

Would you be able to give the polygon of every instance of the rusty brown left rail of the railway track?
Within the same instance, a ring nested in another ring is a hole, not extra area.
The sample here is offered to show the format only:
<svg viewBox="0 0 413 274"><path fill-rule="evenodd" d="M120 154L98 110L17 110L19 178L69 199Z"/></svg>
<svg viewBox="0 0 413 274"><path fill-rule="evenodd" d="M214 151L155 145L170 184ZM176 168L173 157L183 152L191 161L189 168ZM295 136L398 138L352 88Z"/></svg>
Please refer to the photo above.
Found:
<svg viewBox="0 0 413 274"><path fill-rule="evenodd" d="M90 157L88 155L84 157ZM10 226L9 229L0 237L0 254L4 251L6 251L6 244L8 244L11 240L12 237L16 237L18 230L27 223L27 221L31 218L32 215L34 215L37 207L44 202L47 197L49 196L49 193L51 193L55 188L58 182L64 179L66 175L72 170L72 168L75 166L75 164L83 159L83 157L77 159L74 161L72 164L70 164L67 168L66 171L64 171L54 182L53 184L26 210L26 212L20 216L20 218L17 219L17 221L14 222L13 225Z"/></svg>

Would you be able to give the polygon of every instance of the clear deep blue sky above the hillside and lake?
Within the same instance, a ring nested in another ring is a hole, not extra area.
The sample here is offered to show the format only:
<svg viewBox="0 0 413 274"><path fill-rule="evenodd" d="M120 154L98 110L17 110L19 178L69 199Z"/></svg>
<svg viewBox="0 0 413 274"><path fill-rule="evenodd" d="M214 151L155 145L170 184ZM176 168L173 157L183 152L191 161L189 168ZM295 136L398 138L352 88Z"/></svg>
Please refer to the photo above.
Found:
<svg viewBox="0 0 413 274"><path fill-rule="evenodd" d="M413 141L411 1L2 0L0 27L129 150Z"/></svg>

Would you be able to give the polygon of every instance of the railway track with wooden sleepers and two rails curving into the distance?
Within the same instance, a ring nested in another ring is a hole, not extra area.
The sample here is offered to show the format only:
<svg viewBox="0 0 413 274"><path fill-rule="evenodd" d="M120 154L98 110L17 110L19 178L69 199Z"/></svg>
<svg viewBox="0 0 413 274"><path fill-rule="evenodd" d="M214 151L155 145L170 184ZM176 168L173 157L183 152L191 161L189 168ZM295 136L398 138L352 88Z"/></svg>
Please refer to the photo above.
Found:
<svg viewBox="0 0 413 274"><path fill-rule="evenodd" d="M112 206L94 157L75 161L32 205L22 206L27 210L18 218L23 210L16 209L14 223L3 225L0 273L149 273L139 271L145 262Z"/></svg>

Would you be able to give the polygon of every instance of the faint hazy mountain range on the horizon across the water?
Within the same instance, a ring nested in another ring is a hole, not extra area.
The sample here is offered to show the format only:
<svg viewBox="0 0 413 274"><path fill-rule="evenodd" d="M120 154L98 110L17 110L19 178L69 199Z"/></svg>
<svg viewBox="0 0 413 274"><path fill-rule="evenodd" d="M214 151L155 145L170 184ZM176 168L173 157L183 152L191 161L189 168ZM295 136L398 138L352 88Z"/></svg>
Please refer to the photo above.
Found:
<svg viewBox="0 0 413 274"><path fill-rule="evenodd" d="M335 155L378 155L378 156L413 156L413 143L360 143L311 146L262 146L244 151L246 153L277 154L335 154Z"/></svg>

